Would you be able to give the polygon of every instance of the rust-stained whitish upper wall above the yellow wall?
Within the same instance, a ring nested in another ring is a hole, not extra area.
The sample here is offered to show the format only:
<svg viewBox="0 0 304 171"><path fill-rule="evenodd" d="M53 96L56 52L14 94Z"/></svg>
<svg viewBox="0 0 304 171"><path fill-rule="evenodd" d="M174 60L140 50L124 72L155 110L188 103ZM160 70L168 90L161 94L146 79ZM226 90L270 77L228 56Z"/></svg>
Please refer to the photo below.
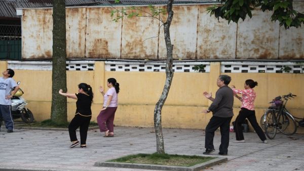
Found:
<svg viewBox="0 0 304 171"><path fill-rule="evenodd" d="M294 6L304 11L304 2L295 2ZM227 24L207 14L208 7L173 7L170 34L174 59L304 59L304 27L285 30L271 21L271 12L258 10L251 19ZM67 9L67 58L166 58L163 27L157 37L161 25L157 19L134 17L116 23L110 17L111 10ZM142 10L149 12L148 7ZM52 9L23 10L23 59L51 58L52 27Z"/></svg>

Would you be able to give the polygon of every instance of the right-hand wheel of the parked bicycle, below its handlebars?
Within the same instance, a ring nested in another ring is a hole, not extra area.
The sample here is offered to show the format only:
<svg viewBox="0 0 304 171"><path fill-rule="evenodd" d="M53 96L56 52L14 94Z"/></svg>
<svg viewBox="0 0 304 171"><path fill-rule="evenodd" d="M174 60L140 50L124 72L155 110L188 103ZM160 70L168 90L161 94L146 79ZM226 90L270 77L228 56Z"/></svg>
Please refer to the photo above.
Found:
<svg viewBox="0 0 304 171"><path fill-rule="evenodd" d="M296 122L290 114L282 111L282 114L277 115L277 120L279 124L278 130L281 133L290 136L296 132Z"/></svg>

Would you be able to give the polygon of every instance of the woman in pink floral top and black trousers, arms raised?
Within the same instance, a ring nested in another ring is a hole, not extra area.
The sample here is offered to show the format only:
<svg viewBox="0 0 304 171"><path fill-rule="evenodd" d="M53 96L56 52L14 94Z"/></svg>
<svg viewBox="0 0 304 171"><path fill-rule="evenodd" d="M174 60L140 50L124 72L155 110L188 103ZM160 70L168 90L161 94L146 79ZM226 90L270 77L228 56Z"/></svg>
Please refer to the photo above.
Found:
<svg viewBox="0 0 304 171"><path fill-rule="evenodd" d="M267 143L265 134L263 133L261 127L258 125L255 117L254 110L254 100L255 100L255 92L253 88L257 86L257 82L252 79L247 79L244 84L245 90L237 90L235 86L232 86L232 90L235 93L235 97L237 97L242 102L241 111L236 118L235 121L235 132L236 139L238 143L244 143L244 135L243 135L243 127L242 123L244 123L247 118L252 125L254 131L257 133L258 137L262 140L263 143ZM239 97L237 94L242 94L242 97Z"/></svg>

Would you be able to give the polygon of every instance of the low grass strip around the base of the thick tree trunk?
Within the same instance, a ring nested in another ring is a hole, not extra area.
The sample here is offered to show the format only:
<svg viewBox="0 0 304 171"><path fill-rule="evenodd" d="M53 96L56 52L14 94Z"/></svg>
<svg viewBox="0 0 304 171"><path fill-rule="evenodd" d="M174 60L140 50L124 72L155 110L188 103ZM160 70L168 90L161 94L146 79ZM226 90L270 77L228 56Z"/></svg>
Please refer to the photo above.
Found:
<svg viewBox="0 0 304 171"><path fill-rule="evenodd" d="M24 127L51 127L51 128L68 128L69 122L58 124L53 122L51 119L44 120L42 122L33 122L27 124L18 124L18 126ZM94 121L90 122L89 127L98 126L98 124Z"/></svg>

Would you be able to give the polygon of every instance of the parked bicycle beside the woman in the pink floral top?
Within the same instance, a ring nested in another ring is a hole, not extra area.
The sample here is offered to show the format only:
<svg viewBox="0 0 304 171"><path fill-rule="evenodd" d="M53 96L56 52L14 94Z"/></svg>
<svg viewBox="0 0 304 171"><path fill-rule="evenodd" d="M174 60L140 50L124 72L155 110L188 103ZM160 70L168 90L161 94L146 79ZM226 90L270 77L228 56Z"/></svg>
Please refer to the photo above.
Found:
<svg viewBox="0 0 304 171"><path fill-rule="evenodd" d="M285 135L293 135L297 130L296 120L286 109L286 103L289 99L296 95L289 93L282 97L276 97L272 102L272 106L265 111L261 117L261 127L264 129L269 139L274 139L277 130Z"/></svg>

